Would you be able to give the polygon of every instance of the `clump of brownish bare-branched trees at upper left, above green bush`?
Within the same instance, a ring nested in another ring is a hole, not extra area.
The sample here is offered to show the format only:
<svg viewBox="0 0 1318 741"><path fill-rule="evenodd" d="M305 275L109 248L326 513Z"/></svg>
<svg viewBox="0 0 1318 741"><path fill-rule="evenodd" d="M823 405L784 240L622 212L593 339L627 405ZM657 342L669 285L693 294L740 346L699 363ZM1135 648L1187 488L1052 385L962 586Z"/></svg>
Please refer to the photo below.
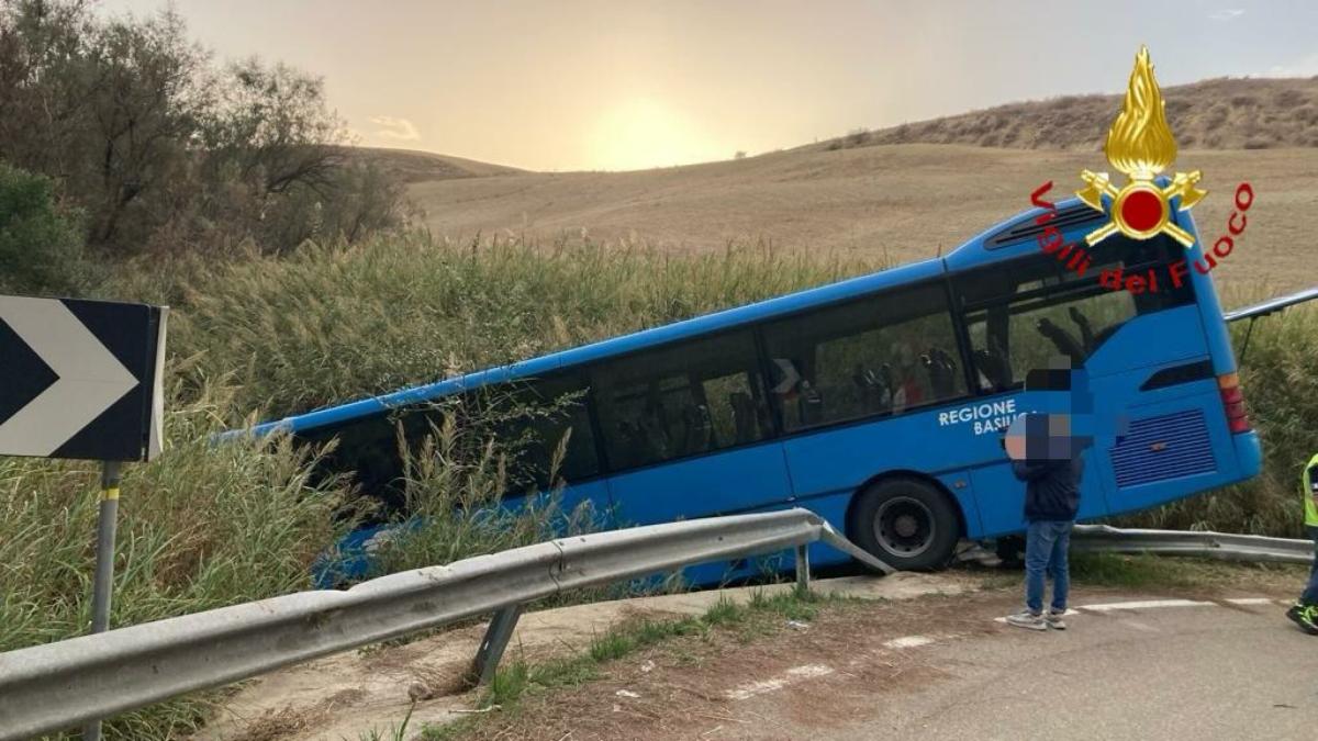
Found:
<svg viewBox="0 0 1318 741"><path fill-rule="evenodd" d="M278 252L405 223L402 189L344 157L319 78L216 67L186 30L173 11L100 20L84 0L0 0L0 158L49 175L115 254L246 239Z"/></svg>

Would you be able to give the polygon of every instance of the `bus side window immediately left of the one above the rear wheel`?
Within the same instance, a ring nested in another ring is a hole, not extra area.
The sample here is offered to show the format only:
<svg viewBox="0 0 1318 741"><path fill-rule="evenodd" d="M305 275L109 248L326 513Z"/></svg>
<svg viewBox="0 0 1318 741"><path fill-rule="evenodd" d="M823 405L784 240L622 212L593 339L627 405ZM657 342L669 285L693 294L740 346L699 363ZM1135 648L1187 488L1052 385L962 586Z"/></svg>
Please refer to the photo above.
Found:
<svg viewBox="0 0 1318 741"><path fill-rule="evenodd" d="M749 331L606 361L592 377L614 471L753 443L770 434Z"/></svg>

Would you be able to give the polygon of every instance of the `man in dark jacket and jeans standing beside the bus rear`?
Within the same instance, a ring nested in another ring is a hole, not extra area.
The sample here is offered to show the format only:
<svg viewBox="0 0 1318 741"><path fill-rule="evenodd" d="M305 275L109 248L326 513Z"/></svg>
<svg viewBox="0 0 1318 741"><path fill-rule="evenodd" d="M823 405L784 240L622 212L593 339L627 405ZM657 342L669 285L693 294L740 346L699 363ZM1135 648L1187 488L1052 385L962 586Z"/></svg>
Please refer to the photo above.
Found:
<svg viewBox="0 0 1318 741"><path fill-rule="evenodd" d="M1070 546L1079 479L1081 446L1070 435L1070 417L1025 414L1007 429L1004 440L1012 472L1025 483L1025 609L1007 622L1031 630L1065 630ZM1053 601L1044 613L1044 575L1053 579Z"/></svg>

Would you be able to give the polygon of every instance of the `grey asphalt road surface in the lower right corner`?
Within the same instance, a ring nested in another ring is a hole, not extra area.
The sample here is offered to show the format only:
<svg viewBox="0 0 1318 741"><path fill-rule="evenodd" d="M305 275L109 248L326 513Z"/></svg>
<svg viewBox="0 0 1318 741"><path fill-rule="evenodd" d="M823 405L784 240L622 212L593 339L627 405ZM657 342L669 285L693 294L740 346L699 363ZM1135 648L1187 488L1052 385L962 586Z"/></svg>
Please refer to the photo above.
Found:
<svg viewBox="0 0 1318 741"><path fill-rule="evenodd" d="M1081 610L1066 632L936 641L911 651L942 680L818 737L1318 738L1318 637L1282 610Z"/></svg>

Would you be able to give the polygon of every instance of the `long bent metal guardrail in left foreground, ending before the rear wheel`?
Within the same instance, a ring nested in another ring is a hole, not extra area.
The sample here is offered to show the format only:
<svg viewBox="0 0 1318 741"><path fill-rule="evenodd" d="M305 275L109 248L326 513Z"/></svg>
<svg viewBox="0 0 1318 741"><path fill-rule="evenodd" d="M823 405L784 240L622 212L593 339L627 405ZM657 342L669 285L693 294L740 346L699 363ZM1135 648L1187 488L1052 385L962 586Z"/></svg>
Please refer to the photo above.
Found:
<svg viewBox="0 0 1318 741"><path fill-rule="evenodd" d="M807 546L816 541L894 571L817 514L791 509L563 538L345 591L298 592L18 649L0 654L0 741L494 612L473 667L488 680L531 600L784 548L796 548L797 583L808 585Z"/></svg>

